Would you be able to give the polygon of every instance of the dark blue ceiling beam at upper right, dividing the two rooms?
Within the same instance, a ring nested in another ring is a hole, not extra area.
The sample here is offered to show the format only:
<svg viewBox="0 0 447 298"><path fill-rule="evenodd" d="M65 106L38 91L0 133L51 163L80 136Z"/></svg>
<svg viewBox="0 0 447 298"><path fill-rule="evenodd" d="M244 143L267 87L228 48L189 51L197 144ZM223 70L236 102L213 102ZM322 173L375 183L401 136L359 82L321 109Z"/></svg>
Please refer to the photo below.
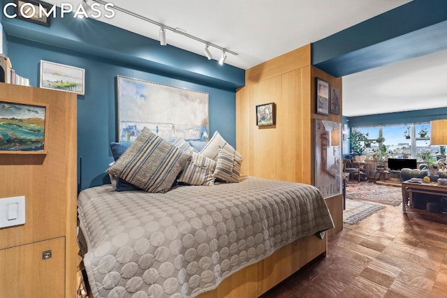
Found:
<svg viewBox="0 0 447 298"><path fill-rule="evenodd" d="M312 65L335 77L447 50L447 1L413 0L312 43Z"/></svg>

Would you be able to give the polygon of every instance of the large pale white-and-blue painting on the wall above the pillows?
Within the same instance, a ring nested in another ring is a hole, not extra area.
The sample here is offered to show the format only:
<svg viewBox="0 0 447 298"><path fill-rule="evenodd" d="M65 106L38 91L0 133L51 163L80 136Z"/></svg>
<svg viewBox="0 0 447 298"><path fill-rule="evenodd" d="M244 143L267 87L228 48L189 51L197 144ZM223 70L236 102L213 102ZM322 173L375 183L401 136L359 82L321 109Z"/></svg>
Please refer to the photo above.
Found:
<svg viewBox="0 0 447 298"><path fill-rule="evenodd" d="M208 94L117 77L118 140L133 142L143 128L166 140L207 141Z"/></svg>

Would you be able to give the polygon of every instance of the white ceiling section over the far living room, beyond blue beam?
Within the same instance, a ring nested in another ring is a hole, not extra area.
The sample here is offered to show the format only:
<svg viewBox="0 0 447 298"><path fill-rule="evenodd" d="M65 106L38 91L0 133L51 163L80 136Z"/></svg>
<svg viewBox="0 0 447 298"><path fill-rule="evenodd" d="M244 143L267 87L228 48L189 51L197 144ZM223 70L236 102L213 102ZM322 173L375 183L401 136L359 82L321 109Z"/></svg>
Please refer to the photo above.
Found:
<svg viewBox="0 0 447 298"><path fill-rule="evenodd" d="M447 107L447 51L343 77L343 114Z"/></svg>

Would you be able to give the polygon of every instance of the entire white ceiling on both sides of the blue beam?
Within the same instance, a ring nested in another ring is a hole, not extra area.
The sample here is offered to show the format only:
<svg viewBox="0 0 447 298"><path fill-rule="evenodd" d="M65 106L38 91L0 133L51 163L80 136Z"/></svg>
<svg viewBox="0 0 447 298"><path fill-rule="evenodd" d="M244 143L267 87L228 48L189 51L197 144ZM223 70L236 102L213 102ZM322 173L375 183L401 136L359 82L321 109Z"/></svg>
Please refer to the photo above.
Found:
<svg viewBox="0 0 447 298"><path fill-rule="evenodd" d="M237 52L226 64L247 69L314 43L411 0L110 0L169 27ZM73 3L80 0L47 1ZM89 3L92 3L89 0ZM159 40L159 27L117 12L102 18ZM204 55L204 45L172 31L168 45ZM210 48L214 59L220 51ZM343 78L343 114L358 116L446 106L447 52L403 61Z"/></svg>

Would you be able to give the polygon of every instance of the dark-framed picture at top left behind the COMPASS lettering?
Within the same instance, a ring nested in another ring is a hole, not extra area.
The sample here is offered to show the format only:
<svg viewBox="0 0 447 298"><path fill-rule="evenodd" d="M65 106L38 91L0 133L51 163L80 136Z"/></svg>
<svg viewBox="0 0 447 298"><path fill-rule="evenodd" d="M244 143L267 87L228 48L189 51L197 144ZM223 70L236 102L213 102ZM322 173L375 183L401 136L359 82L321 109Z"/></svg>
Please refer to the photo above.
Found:
<svg viewBox="0 0 447 298"><path fill-rule="evenodd" d="M51 9L50 4L36 1L22 1L15 0L15 14L20 20L25 20L28 22L33 22L46 27L50 27L50 15L48 12ZM41 9L46 11L43 13Z"/></svg>

